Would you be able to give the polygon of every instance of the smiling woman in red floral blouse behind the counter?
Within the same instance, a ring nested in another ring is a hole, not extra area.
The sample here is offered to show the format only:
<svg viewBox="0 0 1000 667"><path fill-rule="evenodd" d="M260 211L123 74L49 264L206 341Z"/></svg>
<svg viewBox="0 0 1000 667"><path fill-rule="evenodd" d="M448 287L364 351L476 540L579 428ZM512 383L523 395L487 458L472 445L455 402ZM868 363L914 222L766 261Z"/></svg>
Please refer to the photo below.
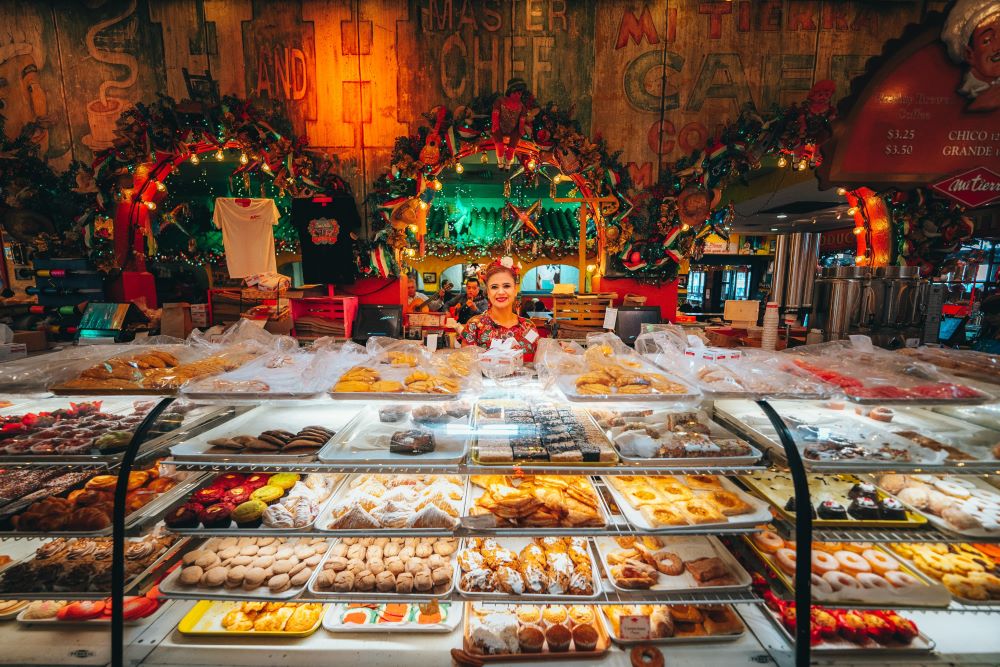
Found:
<svg viewBox="0 0 1000 667"><path fill-rule="evenodd" d="M524 350L524 360L531 361L538 342L538 331L531 320L517 315L517 280L517 269L510 257L495 260L486 267L483 283L489 306L485 313L466 323L462 330L463 345L489 348L494 340L513 338L515 347Z"/></svg>

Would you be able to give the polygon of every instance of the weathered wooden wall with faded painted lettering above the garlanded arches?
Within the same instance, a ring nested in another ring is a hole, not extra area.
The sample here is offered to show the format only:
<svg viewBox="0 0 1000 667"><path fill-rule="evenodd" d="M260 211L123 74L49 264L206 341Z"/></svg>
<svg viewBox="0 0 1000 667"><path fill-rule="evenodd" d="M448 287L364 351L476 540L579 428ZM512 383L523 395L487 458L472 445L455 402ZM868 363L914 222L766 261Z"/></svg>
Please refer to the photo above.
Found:
<svg viewBox="0 0 1000 667"><path fill-rule="evenodd" d="M930 3L931 7L941 3ZM299 134L343 160L359 193L394 138L525 79L624 151L640 185L743 104L838 96L867 57L927 11L852 0L37 0L0 3L8 136L43 120L56 167L89 161L127 105L223 94L281 99ZM9 28L8 28L9 26ZM32 71L37 69L37 74ZM2 84L2 82L0 82Z"/></svg>

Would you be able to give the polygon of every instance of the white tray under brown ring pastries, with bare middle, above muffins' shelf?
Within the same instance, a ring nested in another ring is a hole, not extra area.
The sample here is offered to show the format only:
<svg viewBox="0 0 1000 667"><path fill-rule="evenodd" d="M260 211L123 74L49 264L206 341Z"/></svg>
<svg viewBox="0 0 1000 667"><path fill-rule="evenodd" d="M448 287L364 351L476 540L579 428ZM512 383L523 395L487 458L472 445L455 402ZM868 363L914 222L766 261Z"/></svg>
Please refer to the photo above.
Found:
<svg viewBox="0 0 1000 667"><path fill-rule="evenodd" d="M711 557L714 555L719 558L729 570L729 573L734 576L736 583L728 586L699 586L695 578L691 576L687 570L682 572L677 576L669 576L659 573L660 583L652 586L648 589L640 588L623 588L615 582L615 578L611 576L611 565L608 563L608 554L615 550L620 549L618 543L615 542L612 537L595 537L594 546L597 547L597 553L601 558L601 565L604 568L604 573L607 575L607 581L610 582L611 586L616 590L628 594L641 594L644 590L650 591L671 591L671 592L692 592L692 593L732 593L738 591L745 591L750 588L751 579L750 575L747 573L743 566L740 565L739 561L722 546L717 537L711 535L690 535L685 537L660 537L660 540L666 542L663 548L673 551L682 556L685 550L693 550L698 553L697 556L693 558L681 558L681 560L693 560L694 558L701 558L703 556ZM610 631L608 634L611 634Z"/></svg>

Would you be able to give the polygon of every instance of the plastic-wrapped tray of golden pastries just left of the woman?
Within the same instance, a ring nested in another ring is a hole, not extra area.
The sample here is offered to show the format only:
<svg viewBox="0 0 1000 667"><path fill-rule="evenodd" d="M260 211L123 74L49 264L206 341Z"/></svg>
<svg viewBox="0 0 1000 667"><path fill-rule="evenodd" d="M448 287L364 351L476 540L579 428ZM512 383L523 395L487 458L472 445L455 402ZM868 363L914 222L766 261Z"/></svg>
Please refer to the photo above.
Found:
<svg viewBox="0 0 1000 667"><path fill-rule="evenodd" d="M477 395L482 376L479 350L431 352L413 341L371 338L367 357L330 382L338 400L449 401Z"/></svg>

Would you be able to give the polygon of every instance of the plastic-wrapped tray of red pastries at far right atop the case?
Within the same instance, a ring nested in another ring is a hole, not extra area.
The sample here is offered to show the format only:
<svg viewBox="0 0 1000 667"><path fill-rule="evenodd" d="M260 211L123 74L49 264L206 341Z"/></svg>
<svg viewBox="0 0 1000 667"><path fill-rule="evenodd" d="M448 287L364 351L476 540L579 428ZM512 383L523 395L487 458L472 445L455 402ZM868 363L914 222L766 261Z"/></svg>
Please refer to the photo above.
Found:
<svg viewBox="0 0 1000 667"><path fill-rule="evenodd" d="M931 364L877 348L867 336L806 345L782 354L855 403L976 404L995 398Z"/></svg>

